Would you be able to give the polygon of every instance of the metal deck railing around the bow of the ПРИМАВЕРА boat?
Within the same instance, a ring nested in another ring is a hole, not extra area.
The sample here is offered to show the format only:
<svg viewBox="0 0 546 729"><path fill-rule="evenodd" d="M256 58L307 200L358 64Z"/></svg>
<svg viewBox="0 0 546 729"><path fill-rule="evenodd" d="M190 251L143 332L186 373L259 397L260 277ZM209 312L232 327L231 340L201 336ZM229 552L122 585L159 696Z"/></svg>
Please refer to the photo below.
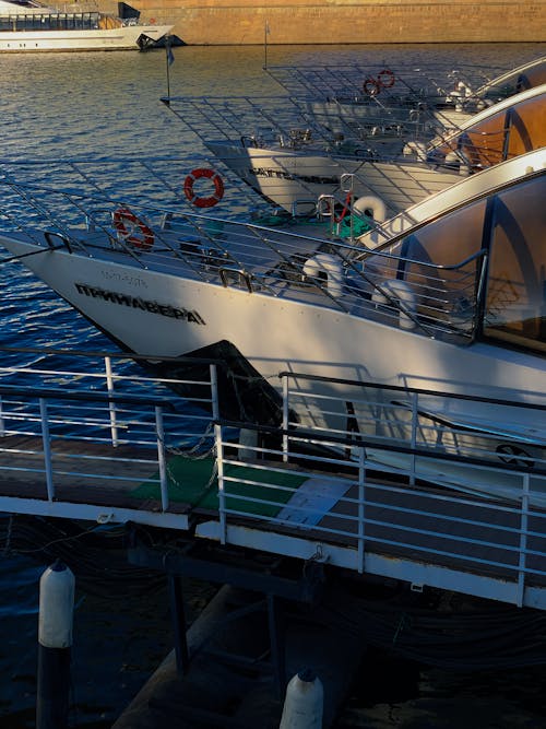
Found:
<svg viewBox="0 0 546 729"><path fill-rule="evenodd" d="M153 247L141 250L126 244L116 228L116 201L1 181L0 191L7 232L21 232L44 250L66 247L74 255L134 267L136 285L139 270L153 268L336 308L425 336L468 339L474 332L483 251L451 266L406 258L412 270L406 283L393 281L400 257L373 251L373 260L368 260L370 251L352 240L352 228L346 226L346 237L339 237L342 224L328 213L271 227L268 219L265 225L244 224L132 204L131 212L154 240ZM360 226L360 233L364 230Z"/></svg>

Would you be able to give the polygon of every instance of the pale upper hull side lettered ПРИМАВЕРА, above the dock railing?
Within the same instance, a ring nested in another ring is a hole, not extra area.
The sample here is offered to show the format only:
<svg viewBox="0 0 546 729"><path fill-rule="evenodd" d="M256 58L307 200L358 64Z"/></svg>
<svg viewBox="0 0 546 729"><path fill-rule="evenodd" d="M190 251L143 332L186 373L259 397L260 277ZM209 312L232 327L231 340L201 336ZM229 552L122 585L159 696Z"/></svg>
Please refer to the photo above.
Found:
<svg viewBox="0 0 546 729"><path fill-rule="evenodd" d="M405 385L447 392L533 400L544 391L546 361L485 343L460 346L302 301L272 301L202 280L44 251L17 236L0 245L127 350L180 356L228 340L264 378L293 372ZM151 254L152 255L152 254ZM141 263L145 263L144 257ZM332 385L335 389L335 385ZM342 386L343 387L343 386Z"/></svg>

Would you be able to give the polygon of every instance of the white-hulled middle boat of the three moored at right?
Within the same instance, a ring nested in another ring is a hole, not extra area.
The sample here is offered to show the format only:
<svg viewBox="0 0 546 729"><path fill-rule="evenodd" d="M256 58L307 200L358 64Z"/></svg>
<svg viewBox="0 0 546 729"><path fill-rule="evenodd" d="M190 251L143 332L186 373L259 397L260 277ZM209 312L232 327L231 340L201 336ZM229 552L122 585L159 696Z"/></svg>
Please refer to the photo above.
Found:
<svg viewBox="0 0 546 729"><path fill-rule="evenodd" d="M207 99L207 108L213 104ZM188 106L182 101L182 108ZM233 127L223 127L225 107L225 101L218 102L216 114L217 130L225 129L225 137L204 139L204 144L260 196L290 213L312 211L321 197L331 196L342 214L349 195L382 222L461 176L546 144L546 84L485 108L429 144L395 134L384 143L342 139L327 151L324 139L316 139L310 129L272 129L273 115L269 137L235 136ZM230 119L237 120L237 114ZM349 186L342 181L347 176Z"/></svg>

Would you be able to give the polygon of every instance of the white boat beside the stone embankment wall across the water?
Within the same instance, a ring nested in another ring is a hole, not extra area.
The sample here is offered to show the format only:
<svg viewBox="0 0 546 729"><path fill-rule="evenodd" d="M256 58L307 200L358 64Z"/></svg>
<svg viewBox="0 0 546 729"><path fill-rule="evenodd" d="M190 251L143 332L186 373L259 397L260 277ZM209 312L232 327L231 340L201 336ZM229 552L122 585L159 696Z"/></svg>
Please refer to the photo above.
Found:
<svg viewBox="0 0 546 729"><path fill-rule="evenodd" d="M64 12L29 2L0 0L0 52L145 50L168 36L173 25L141 25L129 16Z"/></svg>

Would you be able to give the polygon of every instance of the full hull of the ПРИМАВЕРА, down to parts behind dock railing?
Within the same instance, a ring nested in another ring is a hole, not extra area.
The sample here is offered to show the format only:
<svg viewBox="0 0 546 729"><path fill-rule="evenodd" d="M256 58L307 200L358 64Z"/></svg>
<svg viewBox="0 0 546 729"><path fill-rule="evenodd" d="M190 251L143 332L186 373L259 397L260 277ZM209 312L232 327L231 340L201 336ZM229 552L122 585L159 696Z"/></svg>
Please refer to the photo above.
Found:
<svg viewBox="0 0 546 729"><path fill-rule="evenodd" d="M354 421L357 432L376 444L368 454L371 468L414 469L420 478L465 492L521 497L518 474L489 482L479 471L468 471L453 460L440 466L429 458L420 463L393 454L390 443L413 442L411 388L427 392L419 418L425 423L423 446L432 452L472 456L479 447L494 462L511 462L513 452L523 454L519 457L525 463L544 458L546 410L519 407L544 400L546 362L542 357L486 343L461 346L337 308L272 299L227 281L221 285L154 271L145 258L153 254L142 254L136 263L119 252L99 259L64 247L47 250L23 238L2 235L0 245L13 255L26 255L25 264L40 280L122 349L143 356L150 367L158 366L159 357L221 357L223 418L278 425L283 416L280 374L298 373L306 400L290 403L290 420L328 434L344 433ZM191 372L206 365L193 360L162 366L162 374L188 381L188 367ZM370 383L372 388L367 387ZM387 389L378 393L378 386ZM390 386L400 389L393 393ZM302 389L299 385L293 389L298 399ZM509 419L502 416L499 422L496 401L466 400L462 410L452 409L446 393L507 400ZM329 398L325 405L324 398ZM439 423L443 424L439 427ZM531 481L531 491L533 501L546 504L542 475L536 483Z"/></svg>

